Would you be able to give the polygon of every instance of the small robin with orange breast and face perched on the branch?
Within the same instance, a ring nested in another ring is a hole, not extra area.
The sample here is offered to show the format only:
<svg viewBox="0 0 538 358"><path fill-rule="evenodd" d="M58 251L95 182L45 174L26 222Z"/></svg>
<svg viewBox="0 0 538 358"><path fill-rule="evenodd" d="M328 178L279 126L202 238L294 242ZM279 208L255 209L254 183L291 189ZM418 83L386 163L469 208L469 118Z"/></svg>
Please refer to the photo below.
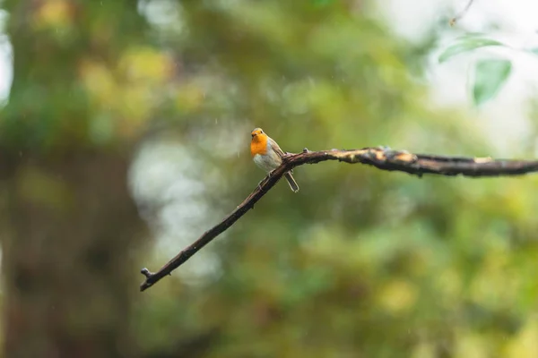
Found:
<svg viewBox="0 0 538 358"><path fill-rule="evenodd" d="M282 164L284 152L271 137L269 137L261 128L256 128L250 133L252 141L250 141L250 154L256 163L256 166L261 167L267 173L271 173L277 166ZM299 192L299 185L293 179L291 171L284 174L284 177L290 184L293 192Z"/></svg>

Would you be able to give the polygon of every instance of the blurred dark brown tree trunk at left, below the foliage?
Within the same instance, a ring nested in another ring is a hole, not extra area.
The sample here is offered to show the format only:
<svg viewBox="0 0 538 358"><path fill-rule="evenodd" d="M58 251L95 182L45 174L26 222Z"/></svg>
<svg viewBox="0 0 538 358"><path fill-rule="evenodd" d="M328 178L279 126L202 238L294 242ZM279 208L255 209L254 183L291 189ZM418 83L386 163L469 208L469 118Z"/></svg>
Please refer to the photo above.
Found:
<svg viewBox="0 0 538 358"><path fill-rule="evenodd" d="M138 282L128 253L141 223L126 169L126 158L108 153L16 167L4 240L5 356L133 356Z"/></svg>

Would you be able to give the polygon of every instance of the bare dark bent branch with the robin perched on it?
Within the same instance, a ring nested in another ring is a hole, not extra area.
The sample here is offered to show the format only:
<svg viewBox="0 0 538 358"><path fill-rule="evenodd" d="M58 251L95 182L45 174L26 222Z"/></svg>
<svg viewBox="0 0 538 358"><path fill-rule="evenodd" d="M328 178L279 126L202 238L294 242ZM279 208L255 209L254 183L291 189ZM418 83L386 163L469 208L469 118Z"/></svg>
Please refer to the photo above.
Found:
<svg viewBox="0 0 538 358"><path fill-rule="evenodd" d="M351 150L331 149L324 151L308 151L308 149L304 149L302 153L287 155L282 165L274 169L271 175L265 177L264 181L258 185L256 190L250 193L247 199L239 204L239 207L233 210L230 215L224 217L221 223L202 234L195 243L192 243L185 250L180 251L176 257L169 260L159 271L152 273L147 268L143 268L141 272L146 279L140 286L140 290L146 290L162 277L169 275L207 243L211 243L215 237L232 226L249 209L254 209L254 204L273 188L274 184L282 178L284 173L296 166L316 164L325 160L338 160L350 164L368 164L381 170L400 171L419 177L424 174L464 175L471 177L508 176L524 175L538 171L538 161L530 160L430 156L392 150L386 147Z"/></svg>

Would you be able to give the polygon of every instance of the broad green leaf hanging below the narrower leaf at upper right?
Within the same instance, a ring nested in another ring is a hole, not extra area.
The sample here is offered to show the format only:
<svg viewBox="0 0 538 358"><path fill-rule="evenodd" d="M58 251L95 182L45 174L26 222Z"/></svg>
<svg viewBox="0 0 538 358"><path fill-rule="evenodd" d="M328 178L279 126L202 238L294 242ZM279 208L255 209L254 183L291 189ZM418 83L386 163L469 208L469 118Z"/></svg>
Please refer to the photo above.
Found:
<svg viewBox="0 0 538 358"><path fill-rule="evenodd" d="M508 60L482 60L474 68L473 100L476 106L495 97L508 79L512 63Z"/></svg>

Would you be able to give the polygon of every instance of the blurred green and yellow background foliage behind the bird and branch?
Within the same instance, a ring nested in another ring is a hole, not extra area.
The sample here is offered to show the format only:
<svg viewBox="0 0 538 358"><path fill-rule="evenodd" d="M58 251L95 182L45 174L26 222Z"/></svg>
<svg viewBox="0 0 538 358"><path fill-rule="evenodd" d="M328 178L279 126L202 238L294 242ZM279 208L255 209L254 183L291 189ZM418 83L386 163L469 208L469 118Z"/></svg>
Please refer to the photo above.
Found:
<svg viewBox="0 0 538 358"><path fill-rule="evenodd" d="M4 3L13 13L30 6ZM155 236L173 239L165 253L145 251L133 272L158 268L256 187L256 126L294 152L490 152L473 121L430 105L409 70L425 51L377 19L375 2L38 3L10 25L16 81L2 143L35 153L129 149L140 212ZM127 5L146 28L117 13ZM18 72L36 60L35 72ZM157 154L141 166L150 149ZM177 274L129 296L141 356L538 351L535 177L417 179L338 163L295 173L298 194L279 183ZM24 183L38 199L56 192L53 205L69 200L39 173Z"/></svg>

